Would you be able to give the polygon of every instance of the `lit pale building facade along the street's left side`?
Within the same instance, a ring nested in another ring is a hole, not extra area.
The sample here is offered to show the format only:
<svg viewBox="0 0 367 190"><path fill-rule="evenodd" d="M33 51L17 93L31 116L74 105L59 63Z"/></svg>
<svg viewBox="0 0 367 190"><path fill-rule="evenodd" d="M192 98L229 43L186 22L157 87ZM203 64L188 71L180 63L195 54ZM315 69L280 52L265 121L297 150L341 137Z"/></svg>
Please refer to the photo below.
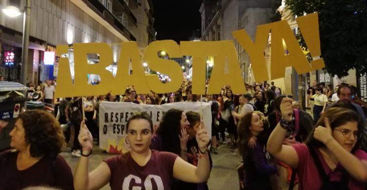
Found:
<svg viewBox="0 0 367 190"><path fill-rule="evenodd" d="M13 1L23 11L23 0L2 0L0 7ZM134 32L141 21L134 11L139 8L137 0L31 0L27 81L37 84L56 77L57 58L45 63L45 52L68 41L111 44L116 62L119 43L137 41ZM9 18L0 12L0 75L6 80L20 80L22 32L23 16Z"/></svg>

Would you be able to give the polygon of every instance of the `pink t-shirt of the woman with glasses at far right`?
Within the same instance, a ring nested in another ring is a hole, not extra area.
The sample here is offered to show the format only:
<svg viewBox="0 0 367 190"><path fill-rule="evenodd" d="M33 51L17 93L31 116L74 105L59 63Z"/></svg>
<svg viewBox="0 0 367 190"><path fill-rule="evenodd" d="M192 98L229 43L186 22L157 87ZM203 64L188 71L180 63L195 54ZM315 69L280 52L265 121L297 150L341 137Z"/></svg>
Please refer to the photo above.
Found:
<svg viewBox="0 0 367 190"><path fill-rule="evenodd" d="M293 145L293 148L295 148L298 155L297 172L300 179L300 185L298 186L298 189L319 190L322 186L322 179L312 159L312 155L307 148L307 145L299 143ZM325 173L329 174L331 172L331 169L326 164L325 159L322 157L321 152L317 148L316 153L319 156ZM367 153L361 149L357 149L354 155L360 160L367 160ZM341 168L342 166L338 164L337 170ZM340 181L341 176L341 172L333 172L330 174L330 181ZM350 190L365 190L367 186L366 184L359 182L350 176L348 187Z"/></svg>

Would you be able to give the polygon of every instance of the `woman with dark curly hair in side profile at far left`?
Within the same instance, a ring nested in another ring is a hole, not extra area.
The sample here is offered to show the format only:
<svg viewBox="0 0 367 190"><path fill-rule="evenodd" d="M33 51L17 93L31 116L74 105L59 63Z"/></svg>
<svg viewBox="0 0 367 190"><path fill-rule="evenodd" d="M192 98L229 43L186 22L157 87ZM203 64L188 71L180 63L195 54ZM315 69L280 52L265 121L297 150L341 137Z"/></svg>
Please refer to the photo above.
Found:
<svg viewBox="0 0 367 190"><path fill-rule="evenodd" d="M55 117L43 110L26 111L9 135L10 147L15 150L0 153L0 189L40 185L74 189L71 169L59 155L65 137Z"/></svg>

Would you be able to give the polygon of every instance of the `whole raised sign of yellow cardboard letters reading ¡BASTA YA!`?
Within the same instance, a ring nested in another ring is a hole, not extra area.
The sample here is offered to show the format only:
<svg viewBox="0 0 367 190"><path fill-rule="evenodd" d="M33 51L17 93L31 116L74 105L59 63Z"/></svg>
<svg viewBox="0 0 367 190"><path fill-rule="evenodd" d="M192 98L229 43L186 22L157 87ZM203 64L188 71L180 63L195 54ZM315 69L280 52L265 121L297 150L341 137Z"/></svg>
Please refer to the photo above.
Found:
<svg viewBox="0 0 367 190"><path fill-rule="evenodd" d="M308 62L296 37L287 21L277 21L259 25L256 39L252 42L244 29L232 32L236 41L249 54L253 75L256 81L267 81L284 77L285 68L293 66L298 74L323 68L324 62L320 58L320 36L318 14L313 13L296 19L303 39L313 56ZM264 50L271 34L271 79L267 73ZM286 45L287 54L283 46ZM169 83L161 83L157 75L145 74L142 59L136 42L122 42L117 73L114 77L105 68L113 63L112 49L107 43L74 43L74 83L72 82L69 59L61 57L59 61L58 85L55 97L92 96L111 92L113 95L124 94L126 86L133 85L137 93L148 94L150 90L156 93L177 91L182 82L182 68L173 60L161 59L159 51L165 51L170 58L180 58L184 55L192 56L192 93L205 94L206 58L213 56L214 66L207 87L208 94L218 94L223 85L230 85L234 94L246 93L241 77L237 52L232 41L215 42L180 42L178 45L172 40L156 41L149 44L144 52L144 60L151 70L164 73L171 79ZM57 55L68 53L68 45L56 47ZM87 63L87 54L98 54L99 63ZM225 63L227 71L225 72ZM131 63L133 73L129 72ZM88 74L96 74L101 78L97 85L88 84Z"/></svg>

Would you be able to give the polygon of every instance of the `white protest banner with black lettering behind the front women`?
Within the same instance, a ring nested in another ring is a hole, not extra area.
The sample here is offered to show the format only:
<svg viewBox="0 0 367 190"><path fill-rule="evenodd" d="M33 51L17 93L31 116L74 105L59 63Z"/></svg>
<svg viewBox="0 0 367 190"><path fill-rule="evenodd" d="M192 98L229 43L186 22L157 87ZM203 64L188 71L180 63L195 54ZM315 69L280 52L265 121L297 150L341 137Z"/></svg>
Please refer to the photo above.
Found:
<svg viewBox="0 0 367 190"><path fill-rule="evenodd" d="M125 153L126 124L135 112L147 112L155 127L159 127L160 120L169 109L181 109L184 112L196 111L200 113L202 105L203 120L206 130L211 135L211 109L209 103L177 102L165 105L138 105L130 102L101 102L99 106L99 148L110 153ZM173 134L174 135L174 134Z"/></svg>

